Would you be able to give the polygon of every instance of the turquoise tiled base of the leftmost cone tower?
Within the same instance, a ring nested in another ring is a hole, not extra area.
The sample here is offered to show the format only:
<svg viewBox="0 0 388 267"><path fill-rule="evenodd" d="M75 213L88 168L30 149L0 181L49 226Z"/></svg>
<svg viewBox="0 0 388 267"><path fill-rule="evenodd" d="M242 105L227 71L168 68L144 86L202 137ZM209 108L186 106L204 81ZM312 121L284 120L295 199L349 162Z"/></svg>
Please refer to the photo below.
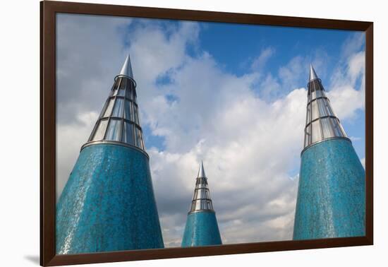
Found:
<svg viewBox="0 0 388 267"><path fill-rule="evenodd" d="M56 253L162 247L147 156L111 144L83 148L56 206Z"/></svg>

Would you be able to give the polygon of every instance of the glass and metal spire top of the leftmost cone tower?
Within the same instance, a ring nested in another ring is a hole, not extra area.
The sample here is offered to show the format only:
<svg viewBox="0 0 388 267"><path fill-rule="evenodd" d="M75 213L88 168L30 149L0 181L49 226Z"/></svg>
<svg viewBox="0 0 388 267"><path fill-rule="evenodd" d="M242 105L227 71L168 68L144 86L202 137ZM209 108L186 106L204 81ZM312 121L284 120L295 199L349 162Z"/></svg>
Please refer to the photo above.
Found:
<svg viewBox="0 0 388 267"><path fill-rule="evenodd" d="M114 78L95 128L85 146L94 143L116 142L145 150L140 126L136 83L133 80L131 57L126 57L119 75Z"/></svg>

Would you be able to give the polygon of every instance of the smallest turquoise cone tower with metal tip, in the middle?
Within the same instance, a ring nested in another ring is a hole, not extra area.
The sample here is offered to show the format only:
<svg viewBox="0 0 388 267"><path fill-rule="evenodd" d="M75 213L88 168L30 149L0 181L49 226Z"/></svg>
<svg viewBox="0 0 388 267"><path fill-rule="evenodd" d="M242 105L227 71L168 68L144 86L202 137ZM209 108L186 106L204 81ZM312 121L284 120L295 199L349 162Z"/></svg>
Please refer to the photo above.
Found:
<svg viewBox="0 0 388 267"><path fill-rule="evenodd" d="M216 213L213 210L209 186L203 162L201 162L198 177L195 182L193 201L191 201L182 247L197 247L222 244L217 224Z"/></svg>

